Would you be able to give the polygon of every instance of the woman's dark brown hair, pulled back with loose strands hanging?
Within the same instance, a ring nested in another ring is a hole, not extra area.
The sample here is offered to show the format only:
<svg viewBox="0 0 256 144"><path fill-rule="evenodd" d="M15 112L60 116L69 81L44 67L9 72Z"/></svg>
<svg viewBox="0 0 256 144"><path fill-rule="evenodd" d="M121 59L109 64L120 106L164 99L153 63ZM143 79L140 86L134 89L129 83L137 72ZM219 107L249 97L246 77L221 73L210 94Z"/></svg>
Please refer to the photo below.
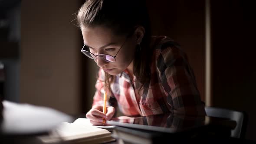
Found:
<svg viewBox="0 0 256 144"><path fill-rule="evenodd" d="M127 35L136 26L143 26L144 37L136 47L133 73L142 84L149 85L151 50L150 20L144 0L87 0L76 16L79 27L105 26L117 35ZM105 72L105 87L111 92L110 84L115 76Z"/></svg>

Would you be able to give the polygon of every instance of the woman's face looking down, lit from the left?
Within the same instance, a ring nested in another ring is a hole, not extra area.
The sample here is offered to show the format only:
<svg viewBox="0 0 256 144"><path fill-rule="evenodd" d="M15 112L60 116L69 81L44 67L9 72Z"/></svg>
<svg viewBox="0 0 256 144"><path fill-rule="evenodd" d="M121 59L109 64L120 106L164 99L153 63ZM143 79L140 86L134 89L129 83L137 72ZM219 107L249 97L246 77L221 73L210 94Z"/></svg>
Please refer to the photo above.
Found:
<svg viewBox="0 0 256 144"><path fill-rule="evenodd" d="M115 56L118 53L115 57L115 62L106 62L96 56L95 62L105 72L110 75L118 75L126 68L132 67L137 44L135 35L131 35L128 38L126 35L115 35L111 29L103 26L82 27L81 29L84 44L86 45L84 50L96 55L107 54ZM120 51L118 52L119 49Z"/></svg>

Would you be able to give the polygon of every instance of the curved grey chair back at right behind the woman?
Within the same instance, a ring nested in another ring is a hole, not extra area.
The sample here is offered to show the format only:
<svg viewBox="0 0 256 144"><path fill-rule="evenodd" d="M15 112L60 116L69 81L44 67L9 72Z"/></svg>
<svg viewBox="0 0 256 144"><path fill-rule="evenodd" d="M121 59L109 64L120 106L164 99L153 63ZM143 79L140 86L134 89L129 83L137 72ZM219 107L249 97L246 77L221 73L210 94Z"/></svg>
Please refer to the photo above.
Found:
<svg viewBox="0 0 256 144"><path fill-rule="evenodd" d="M236 128L231 131L231 137L244 138L247 128L248 116L244 111L233 111L224 108L205 107L207 116L229 118L236 121Z"/></svg>

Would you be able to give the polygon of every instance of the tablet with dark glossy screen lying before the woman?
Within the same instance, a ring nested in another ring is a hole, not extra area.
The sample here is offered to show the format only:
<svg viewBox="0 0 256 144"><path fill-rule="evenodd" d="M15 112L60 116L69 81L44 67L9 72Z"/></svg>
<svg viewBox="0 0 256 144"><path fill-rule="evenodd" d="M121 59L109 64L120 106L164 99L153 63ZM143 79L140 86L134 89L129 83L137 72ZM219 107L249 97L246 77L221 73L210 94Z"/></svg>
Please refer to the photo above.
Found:
<svg viewBox="0 0 256 144"><path fill-rule="evenodd" d="M141 130L177 133L206 124L205 117L189 117L184 115L151 115L145 117L118 117L107 121L107 124Z"/></svg>

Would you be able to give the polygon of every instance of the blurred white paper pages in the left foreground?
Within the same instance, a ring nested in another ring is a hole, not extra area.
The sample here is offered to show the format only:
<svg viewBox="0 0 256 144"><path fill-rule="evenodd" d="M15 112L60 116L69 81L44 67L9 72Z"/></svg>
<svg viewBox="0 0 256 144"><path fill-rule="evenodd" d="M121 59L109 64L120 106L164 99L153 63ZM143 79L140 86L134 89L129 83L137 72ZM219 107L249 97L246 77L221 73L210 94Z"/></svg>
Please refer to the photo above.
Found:
<svg viewBox="0 0 256 144"><path fill-rule="evenodd" d="M34 134L47 132L62 122L73 119L52 108L18 104L3 101L3 121L1 132L4 134Z"/></svg>

